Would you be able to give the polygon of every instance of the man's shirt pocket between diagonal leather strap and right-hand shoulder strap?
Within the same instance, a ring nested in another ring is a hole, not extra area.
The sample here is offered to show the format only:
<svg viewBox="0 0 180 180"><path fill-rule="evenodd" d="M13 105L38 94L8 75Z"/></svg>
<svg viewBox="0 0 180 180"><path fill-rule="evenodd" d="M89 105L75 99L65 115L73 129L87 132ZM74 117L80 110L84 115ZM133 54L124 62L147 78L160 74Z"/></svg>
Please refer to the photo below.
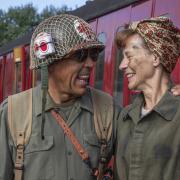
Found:
<svg viewBox="0 0 180 180"><path fill-rule="evenodd" d="M101 144L94 134L85 134L84 135L84 148L89 154L90 161L93 167L98 165L98 157L100 153Z"/></svg>

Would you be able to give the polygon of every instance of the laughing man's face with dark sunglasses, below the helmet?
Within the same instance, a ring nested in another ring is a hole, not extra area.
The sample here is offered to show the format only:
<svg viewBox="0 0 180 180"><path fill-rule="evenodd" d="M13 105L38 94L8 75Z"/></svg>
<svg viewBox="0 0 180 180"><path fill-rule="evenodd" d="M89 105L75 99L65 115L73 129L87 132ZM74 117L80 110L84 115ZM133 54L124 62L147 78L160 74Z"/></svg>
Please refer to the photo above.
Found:
<svg viewBox="0 0 180 180"><path fill-rule="evenodd" d="M90 72L98 59L98 50L78 50L49 67L49 80L59 93L82 96L89 83Z"/></svg>

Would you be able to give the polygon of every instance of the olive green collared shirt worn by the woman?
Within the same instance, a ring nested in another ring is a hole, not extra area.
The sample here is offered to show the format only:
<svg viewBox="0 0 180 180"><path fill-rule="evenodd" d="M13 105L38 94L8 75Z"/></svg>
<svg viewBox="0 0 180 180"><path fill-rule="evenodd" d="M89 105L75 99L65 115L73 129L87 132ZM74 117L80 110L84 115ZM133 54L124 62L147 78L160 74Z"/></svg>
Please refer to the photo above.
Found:
<svg viewBox="0 0 180 180"><path fill-rule="evenodd" d="M180 179L180 97L167 91L141 117L140 94L118 121L115 180Z"/></svg>

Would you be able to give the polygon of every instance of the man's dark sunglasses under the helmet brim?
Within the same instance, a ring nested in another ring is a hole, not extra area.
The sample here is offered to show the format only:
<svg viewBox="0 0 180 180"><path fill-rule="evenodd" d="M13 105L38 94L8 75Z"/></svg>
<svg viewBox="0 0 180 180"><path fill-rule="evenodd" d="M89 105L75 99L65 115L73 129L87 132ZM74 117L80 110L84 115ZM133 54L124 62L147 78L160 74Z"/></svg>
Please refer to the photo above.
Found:
<svg viewBox="0 0 180 180"><path fill-rule="evenodd" d="M92 59L92 61L96 62L98 60L99 50L92 48L92 49L79 49L75 51L73 54L71 54L66 58L73 58L78 62L84 62L88 57Z"/></svg>

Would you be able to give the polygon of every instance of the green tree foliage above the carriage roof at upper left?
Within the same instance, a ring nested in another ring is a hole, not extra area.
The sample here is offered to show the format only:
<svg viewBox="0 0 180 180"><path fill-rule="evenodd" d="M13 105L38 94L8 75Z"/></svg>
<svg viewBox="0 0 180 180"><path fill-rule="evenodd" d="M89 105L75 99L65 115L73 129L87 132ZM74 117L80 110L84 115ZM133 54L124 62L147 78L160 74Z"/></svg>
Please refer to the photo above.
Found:
<svg viewBox="0 0 180 180"><path fill-rule="evenodd" d="M10 7L7 12L0 9L0 46L25 34L29 29L52 15L67 12L67 6L47 6L40 14L32 4Z"/></svg>

